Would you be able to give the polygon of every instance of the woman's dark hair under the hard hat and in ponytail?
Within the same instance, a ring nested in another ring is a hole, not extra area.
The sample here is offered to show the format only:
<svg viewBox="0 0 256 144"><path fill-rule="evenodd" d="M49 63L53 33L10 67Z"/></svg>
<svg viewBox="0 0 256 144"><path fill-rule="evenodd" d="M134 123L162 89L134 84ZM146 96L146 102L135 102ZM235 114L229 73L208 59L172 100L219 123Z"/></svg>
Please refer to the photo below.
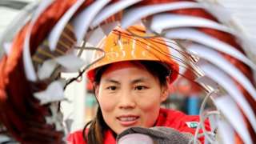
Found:
<svg viewBox="0 0 256 144"><path fill-rule="evenodd" d="M166 77L170 75L170 69L160 62L154 61L134 61L132 62L136 65L141 64L145 66L146 70L150 72L150 74L154 75L155 78L158 78L161 86L166 86ZM106 68L110 65L102 66L95 70L95 78L94 83L98 85L102 78L102 74L106 70ZM86 128L89 127L88 133L86 134ZM96 117L90 122L86 123L86 126L83 129L83 138L87 143L90 144L102 144L104 138L104 132L109 129L109 126L106 125L102 117L102 110L100 106L98 106Z"/></svg>

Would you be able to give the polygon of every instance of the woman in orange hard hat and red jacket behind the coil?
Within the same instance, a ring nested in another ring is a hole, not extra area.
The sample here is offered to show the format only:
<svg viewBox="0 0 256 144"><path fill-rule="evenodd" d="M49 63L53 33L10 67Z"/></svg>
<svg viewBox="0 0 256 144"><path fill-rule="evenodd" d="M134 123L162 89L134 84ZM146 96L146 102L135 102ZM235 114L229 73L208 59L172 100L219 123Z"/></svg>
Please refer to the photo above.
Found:
<svg viewBox="0 0 256 144"><path fill-rule="evenodd" d="M90 126L70 134L70 143L116 143L116 136L132 126L166 126L194 134L190 122L198 122L198 116L160 108L178 76L168 46L162 38L141 38L146 36L142 26L128 30L114 29L100 46L105 57L87 70L98 112Z"/></svg>

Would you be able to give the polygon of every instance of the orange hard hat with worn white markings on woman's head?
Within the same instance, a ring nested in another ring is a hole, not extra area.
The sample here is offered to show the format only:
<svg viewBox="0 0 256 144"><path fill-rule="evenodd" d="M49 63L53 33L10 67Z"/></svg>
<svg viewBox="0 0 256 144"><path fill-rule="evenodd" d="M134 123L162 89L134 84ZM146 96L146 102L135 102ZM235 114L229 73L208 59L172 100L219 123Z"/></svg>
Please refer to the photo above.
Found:
<svg viewBox="0 0 256 144"><path fill-rule="evenodd" d="M146 30L141 25L130 26L127 30L118 26L112 30L98 45L104 50L105 57L86 70L87 78L94 82L95 70L114 62L157 61L170 69L170 83L174 82L178 77L178 63L170 57L170 47L163 38L143 38L146 36ZM97 51L94 60L100 57L102 53Z"/></svg>

